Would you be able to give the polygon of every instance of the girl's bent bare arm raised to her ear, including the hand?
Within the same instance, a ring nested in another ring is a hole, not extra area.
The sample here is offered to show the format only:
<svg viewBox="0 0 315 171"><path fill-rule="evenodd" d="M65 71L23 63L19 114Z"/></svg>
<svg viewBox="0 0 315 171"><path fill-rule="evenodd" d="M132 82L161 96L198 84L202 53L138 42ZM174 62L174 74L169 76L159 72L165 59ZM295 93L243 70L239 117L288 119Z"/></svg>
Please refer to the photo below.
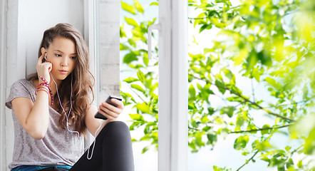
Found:
<svg viewBox="0 0 315 171"><path fill-rule="evenodd" d="M44 53L38 58L36 70L38 76L50 81L49 72L52 64L42 63ZM39 83L43 81L38 80ZM49 95L44 90L38 90L36 100L33 103L29 98L14 98L11 101L16 118L21 126L32 138L40 140L46 135L49 123Z"/></svg>

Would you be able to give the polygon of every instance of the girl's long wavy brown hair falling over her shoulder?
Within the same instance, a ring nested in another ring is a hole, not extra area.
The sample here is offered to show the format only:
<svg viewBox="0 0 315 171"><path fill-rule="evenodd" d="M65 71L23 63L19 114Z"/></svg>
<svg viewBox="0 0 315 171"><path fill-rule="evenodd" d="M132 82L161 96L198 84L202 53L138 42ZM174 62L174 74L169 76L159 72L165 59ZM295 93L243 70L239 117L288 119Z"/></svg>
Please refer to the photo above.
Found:
<svg viewBox="0 0 315 171"><path fill-rule="evenodd" d="M61 36L63 38L69 38L76 44L76 67L69 76L61 82L58 86L58 93L60 95L60 100L63 108L65 109L67 115L71 108L72 97L72 109L69 114L68 121L71 123L72 127L78 131L80 134L86 135L86 113L88 112L88 107L92 104L94 100L93 86L95 78L89 70L89 54L88 46L83 40L81 33L79 33L76 28L70 24L57 24L56 26L49 28L43 33L43 39L41 41L41 46L38 50L38 58L42 55L41 48L48 48L53 42L53 38ZM71 77L72 81L72 95L71 95ZM27 78L28 80L38 79L37 73L34 73ZM93 96L93 99L90 98ZM57 93L53 97L58 99ZM66 128L66 115L64 115L61 105L55 100L57 105L58 113L61 113L59 119L59 125L62 129Z"/></svg>

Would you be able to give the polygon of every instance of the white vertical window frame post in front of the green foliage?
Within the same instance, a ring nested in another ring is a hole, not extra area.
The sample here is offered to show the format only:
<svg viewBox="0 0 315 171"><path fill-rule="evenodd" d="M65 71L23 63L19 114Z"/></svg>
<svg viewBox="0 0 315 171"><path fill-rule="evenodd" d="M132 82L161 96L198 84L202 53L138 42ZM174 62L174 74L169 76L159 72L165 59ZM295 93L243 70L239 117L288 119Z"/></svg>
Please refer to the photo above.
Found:
<svg viewBox="0 0 315 171"><path fill-rule="evenodd" d="M187 170L187 1L159 1L158 170Z"/></svg>

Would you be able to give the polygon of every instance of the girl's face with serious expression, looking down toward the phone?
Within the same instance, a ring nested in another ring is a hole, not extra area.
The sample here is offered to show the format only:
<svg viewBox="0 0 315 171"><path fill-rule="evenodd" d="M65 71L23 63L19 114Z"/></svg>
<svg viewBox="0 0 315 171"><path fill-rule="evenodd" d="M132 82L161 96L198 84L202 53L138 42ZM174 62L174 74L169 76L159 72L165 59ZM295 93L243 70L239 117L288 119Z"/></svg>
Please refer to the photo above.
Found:
<svg viewBox="0 0 315 171"><path fill-rule="evenodd" d="M51 74L55 81L63 81L76 66L76 44L69 38L57 36L48 48L42 48L47 61L52 64Z"/></svg>

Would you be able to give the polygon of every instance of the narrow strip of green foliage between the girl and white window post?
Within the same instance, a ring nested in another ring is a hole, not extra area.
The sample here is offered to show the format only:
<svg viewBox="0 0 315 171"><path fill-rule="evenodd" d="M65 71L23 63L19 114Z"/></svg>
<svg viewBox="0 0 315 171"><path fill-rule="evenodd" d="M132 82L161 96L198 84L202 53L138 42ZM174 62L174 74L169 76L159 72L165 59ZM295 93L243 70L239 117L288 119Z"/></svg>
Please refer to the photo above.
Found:
<svg viewBox="0 0 315 171"><path fill-rule="evenodd" d="M143 147L144 153L150 150L150 147L158 148L158 73L155 73L158 58L149 61L147 50L148 27L155 23L156 18L141 21L140 16L145 13L146 8L138 0L133 0L132 4L121 1L121 6L124 11L133 14L125 16L120 26L120 51L124 54L123 63L134 71L134 76L124 78L122 84L125 83L129 90L122 90L120 95L125 105L131 105L135 110L135 113L129 114L132 121L130 130L143 129L143 137L138 140L133 138L133 142L150 142ZM125 30L125 26L130 28L131 33ZM158 48L154 50L153 54L158 53Z"/></svg>

